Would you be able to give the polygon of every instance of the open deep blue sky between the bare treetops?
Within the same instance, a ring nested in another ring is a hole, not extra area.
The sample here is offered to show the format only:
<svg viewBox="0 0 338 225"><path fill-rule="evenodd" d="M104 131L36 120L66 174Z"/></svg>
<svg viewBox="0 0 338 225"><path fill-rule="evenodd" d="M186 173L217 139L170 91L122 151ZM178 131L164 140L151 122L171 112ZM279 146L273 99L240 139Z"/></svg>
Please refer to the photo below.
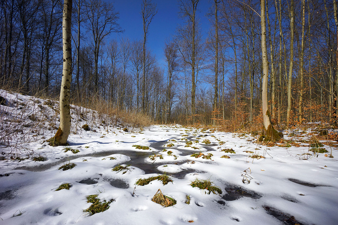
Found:
<svg viewBox="0 0 338 225"><path fill-rule="evenodd" d="M115 0L110 1L115 9L120 13L119 24L124 33L112 34L112 38L128 37L129 39L143 39L143 24L140 14L142 0ZM182 24L183 20L178 18L178 5L176 0L152 0L157 4L158 12L153 18L147 37L147 45L156 55L160 64L164 65L163 47L166 38L174 34L177 24ZM201 30L206 34L209 29L209 21L205 17L213 1L200 0L197 8L200 10L198 17L200 19Z"/></svg>

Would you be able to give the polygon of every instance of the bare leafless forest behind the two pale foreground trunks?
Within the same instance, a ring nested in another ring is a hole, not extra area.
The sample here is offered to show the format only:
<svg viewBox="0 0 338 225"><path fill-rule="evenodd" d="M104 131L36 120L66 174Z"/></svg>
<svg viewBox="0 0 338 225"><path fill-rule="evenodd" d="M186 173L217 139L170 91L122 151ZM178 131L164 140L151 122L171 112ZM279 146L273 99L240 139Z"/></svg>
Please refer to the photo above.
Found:
<svg viewBox="0 0 338 225"><path fill-rule="evenodd" d="M265 7L271 121L336 120L338 19L335 0L214 0L202 30L201 0L179 0L182 23L163 40L163 67L147 45L154 1L140 1L143 36L123 32L118 9L102 0L74 0L74 101L100 96L116 108L160 123L244 125L262 116L261 6ZM62 10L59 0L3 0L0 5L0 84L28 94L58 95Z"/></svg>

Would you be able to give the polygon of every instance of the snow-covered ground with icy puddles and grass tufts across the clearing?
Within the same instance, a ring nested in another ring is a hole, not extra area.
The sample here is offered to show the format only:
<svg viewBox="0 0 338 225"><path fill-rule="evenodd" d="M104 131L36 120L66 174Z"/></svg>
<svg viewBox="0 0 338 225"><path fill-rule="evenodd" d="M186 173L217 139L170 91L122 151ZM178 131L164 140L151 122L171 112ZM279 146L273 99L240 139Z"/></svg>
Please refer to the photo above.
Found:
<svg viewBox="0 0 338 225"><path fill-rule="evenodd" d="M312 153L308 144L267 147L247 134L177 124L134 133L116 127L78 129L68 140L78 153L36 140L27 143L34 152L29 159L0 161L0 224L338 224L338 152L325 143L334 158L304 154ZM202 143L206 139L211 143ZM211 159L191 156L199 152ZM253 154L265 158L252 159ZM47 160L33 161L34 156ZM68 163L76 166L58 170ZM118 165L127 169L112 171ZM135 185L158 174L172 182ZM210 179L222 194L190 186L196 178ZM65 183L69 190L56 191ZM176 204L151 201L158 189ZM88 195L113 200L104 212L90 215L83 212L92 204Z"/></svg>

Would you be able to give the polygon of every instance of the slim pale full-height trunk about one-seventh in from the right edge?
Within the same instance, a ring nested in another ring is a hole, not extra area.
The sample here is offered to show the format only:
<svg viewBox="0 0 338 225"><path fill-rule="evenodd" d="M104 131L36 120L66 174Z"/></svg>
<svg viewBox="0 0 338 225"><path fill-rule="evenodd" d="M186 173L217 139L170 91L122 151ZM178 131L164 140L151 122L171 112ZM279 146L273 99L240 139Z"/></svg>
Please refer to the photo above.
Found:
<svg viewBox="0 0 338 225"><path fill-rule="evenodd" d="M288 77L288 108L286 112L286 124L290 122L291 112L291 83L292 83L292 65L293 65L293 36L294 36L294 6L293 0L290 3L290 65L289 65L289 77Z"/></svg>

